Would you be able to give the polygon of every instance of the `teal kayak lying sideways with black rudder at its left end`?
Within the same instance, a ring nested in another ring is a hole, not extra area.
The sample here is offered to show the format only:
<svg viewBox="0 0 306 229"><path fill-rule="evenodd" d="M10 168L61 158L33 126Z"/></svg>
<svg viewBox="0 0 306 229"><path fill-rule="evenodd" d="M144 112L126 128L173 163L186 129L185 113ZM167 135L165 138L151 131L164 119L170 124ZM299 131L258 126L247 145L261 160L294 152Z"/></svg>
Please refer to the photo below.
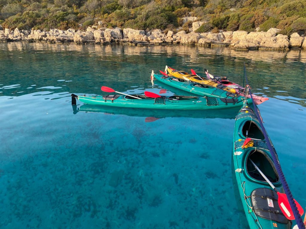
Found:
<svg viewBox="0 0 306 229"><path fill-rule="evenodd" d="M214 98L196 96L160 96L151 98L145 95L107 95L107 96L77 96L72 98L91 105L126 107L142 109L169 110L211 110L241 107L244 98ZM133 97L132 97L133 96ZM139 99L135 98L138 97ZM247 99L250 100L250 99Z"/></svg>

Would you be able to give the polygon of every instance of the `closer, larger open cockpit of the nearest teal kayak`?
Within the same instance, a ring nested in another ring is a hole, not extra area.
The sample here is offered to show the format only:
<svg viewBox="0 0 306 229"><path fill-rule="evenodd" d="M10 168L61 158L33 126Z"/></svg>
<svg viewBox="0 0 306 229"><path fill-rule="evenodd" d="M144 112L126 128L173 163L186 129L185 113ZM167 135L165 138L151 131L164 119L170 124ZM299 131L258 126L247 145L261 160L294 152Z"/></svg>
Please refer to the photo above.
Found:
<svg viewBox="0 0 306 229"><path fill-rule="evenodd" d="M253 179L266 181L263 176L255 169L254 165L249 160L251 159L255 165L263 172L265 176L272 182L278 182L278 175L274 163L271 158L263 151L253 150L246 159L246 170Z"/></svg>

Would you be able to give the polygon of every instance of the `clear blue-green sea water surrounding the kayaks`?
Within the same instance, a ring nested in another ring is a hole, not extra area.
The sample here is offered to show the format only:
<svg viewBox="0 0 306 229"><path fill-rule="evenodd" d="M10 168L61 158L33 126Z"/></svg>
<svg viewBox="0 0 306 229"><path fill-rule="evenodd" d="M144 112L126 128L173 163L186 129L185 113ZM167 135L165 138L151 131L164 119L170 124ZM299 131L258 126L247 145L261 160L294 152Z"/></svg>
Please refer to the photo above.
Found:
<svg viewBox="0 0 306 229"><path fill-rule="evenodd" d="M79 101L73 112L70 97L102 85L158 92L151 70L166 64L242 84L244 61L253 91L269 97L259 109L305 207L306 52L0 43L0 228L244 228L235 113L84 112Z"/></svg>

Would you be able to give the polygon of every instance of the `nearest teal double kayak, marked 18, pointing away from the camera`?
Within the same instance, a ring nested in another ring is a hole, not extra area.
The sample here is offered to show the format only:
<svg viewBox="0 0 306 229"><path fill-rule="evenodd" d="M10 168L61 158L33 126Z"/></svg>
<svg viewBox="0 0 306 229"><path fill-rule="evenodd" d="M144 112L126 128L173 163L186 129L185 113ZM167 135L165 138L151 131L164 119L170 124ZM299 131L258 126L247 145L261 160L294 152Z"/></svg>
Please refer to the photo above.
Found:
<svg viewBox="0 0 306 229"><path fill-rule="evenodd" d="M236 116L232 154L232 169L235 173L233 180L237 180L238 189L236 191L251 229L289 229L292 222L282 213L277 193L254 166L255 164L280 192L284 192L259 121L252 109L254 107L246 105Z"/></svg>

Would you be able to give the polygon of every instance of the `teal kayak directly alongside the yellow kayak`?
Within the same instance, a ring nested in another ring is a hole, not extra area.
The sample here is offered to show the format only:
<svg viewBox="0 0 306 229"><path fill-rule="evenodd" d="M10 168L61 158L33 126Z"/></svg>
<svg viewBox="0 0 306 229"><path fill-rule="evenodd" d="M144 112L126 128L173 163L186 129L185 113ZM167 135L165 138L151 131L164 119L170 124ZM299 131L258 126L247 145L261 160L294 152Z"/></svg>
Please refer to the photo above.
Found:
<svg viewBox="0 0 306 229"><path fill-rule="evenodd" d="M209 96L215 98L238 98L238 94L230 93L221 88L215 88L192 81L185 81L184 79L154 74L154 78L171 87L181 89L185 92L192 93L199 96Z"/></svg>

